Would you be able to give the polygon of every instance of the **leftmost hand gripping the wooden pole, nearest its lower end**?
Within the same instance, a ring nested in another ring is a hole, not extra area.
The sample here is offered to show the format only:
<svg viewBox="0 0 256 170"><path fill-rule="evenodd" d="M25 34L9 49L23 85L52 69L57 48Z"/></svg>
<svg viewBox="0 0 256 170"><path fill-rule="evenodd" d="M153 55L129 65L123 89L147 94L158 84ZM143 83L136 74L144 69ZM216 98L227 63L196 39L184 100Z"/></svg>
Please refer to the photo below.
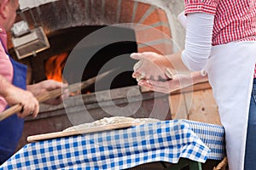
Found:
<svg viewBox="0 0 256 170"><path fill-rule="evenodd" d="M24 118L28 115L32 115L33 117L38 116L38 100L31 92L23 90L21 88L16 88L15 86L9 86L3 97L6 99L7 103L10 106L16 104L22 105L22 111L17 113L17 115L21 118Z"/></svg>

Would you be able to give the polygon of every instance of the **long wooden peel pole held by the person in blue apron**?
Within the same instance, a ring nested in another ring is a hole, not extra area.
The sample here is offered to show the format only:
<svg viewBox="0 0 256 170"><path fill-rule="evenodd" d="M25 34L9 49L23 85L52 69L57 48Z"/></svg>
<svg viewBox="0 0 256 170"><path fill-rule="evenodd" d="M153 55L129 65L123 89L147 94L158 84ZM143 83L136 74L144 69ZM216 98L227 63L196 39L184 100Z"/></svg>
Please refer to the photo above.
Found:
<svg viewBox="0 0 256 170"><path fill-rule="evenodd" d="M84 89L84 88L89 87L91 84L96 82L96 80L100 80L103 77L106 77L112 71L113 70L104 72L104 73L102 73L96 77L92 77L84 82L74 83L72 85L67 86L67 88L57 88L55 90L51 90L49 92L46 92L45 94L40 94L40 95L36 96L36 98L38 99L38 102L44 102L48 99L54 99L54 98L61 96L62 90L68 89L70 93L76 92L79 89ZM3 121L7 117L12 116L17 112L20 112L22 110L22 107L23 107L23 105L17 104L17 105L13 105L9 109L3 111L2 113L0 113L0 121Z"/></svg>

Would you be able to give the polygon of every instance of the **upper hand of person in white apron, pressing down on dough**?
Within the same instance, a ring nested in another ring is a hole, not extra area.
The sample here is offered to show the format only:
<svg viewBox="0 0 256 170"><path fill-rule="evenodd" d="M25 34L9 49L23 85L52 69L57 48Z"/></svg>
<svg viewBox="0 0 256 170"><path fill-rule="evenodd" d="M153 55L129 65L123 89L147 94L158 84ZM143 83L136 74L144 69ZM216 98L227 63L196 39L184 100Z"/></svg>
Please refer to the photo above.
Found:
<svg viewBox="0 0 256 170"><path fill-rule="evenodd" d="M170 67L171 63L165 55L156 54L153 52L133 53L132 59L138 59L134 65L134 73L132 77L150 80L168 80L166 77L166 69Z"/></svg>

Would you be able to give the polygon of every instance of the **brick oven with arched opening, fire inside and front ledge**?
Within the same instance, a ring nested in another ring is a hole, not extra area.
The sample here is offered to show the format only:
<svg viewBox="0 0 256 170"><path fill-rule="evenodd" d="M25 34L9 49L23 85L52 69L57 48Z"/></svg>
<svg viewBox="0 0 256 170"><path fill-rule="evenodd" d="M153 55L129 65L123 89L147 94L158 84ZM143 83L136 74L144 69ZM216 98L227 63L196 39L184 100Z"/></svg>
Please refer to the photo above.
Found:
<svg viewBox="0 0 256 170"><path fill-rule="evenodd" d="M96 76L102 66L116 56L122 56L123 62L120 62L122 65L112 65L116 73L121 74L113 80L110 90L109 87L94 89L92 86L84 89L82 95L73 95L67 99L65 106L41 105L36 119L26 118L20 146L26 144L26 137L29 135L61 131L74 124L91 122L104 116L171 119L169 96L139 88L137 82L131 78L132 66L136 61L129 58L131 53L137 51L172 54L172 26L166 8L160 8L156 3L134 0L59 0L29 8L24 14L30 28L43 27L50 44L49 49L37 56L19 60L28 66L27 83L40 82L47 78L60 80L61 76L55 77L55 73L62 71L60 69L65 66L73 48L84 37L108 26L116 34L102 35L101 38L113 38L115 42L105 44L99 38L82 46L83 50L88 52L93 49L96 53L79 80ZM122 41L124 38L129 41ZM9 51L15 57L11 42ZM82 61L79 59L85 58L73 58L74 65L79 65ZM125 71L122 72L124 68ZM70 68L67 72L70 74L66 75L65 81L70 84L76 82L74 77L78 73L75 69Z"/></svg>

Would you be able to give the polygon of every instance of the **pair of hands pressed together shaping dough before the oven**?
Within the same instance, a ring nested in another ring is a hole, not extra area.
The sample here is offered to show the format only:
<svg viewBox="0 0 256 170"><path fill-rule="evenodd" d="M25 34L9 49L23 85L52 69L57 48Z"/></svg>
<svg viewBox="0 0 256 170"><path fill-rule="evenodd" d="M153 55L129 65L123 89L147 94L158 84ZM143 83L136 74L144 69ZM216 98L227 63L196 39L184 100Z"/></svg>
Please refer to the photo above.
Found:
<svg viewBox="0 0 256 170"><path fill-rule="evenodd" d="M191 74L183 69L183 65L178 59L179 55L177 53L164 56L152 52L131 54L132 59L139 60L134 65L132 77L137 78L138 85L165 94L195 83L193 77L198 77L199 82L205 81L206 78L201 77L200 72ZM171 59L177 68L173 67Z"/></svg>

